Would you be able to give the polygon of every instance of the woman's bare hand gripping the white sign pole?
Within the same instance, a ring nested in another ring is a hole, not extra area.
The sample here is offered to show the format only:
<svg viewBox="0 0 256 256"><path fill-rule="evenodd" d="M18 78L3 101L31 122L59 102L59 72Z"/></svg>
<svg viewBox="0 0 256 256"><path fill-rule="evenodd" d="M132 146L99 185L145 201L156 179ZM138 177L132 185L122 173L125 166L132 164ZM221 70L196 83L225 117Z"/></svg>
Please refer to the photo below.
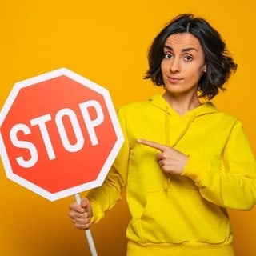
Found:
<svg viewBox="0 0 256 256"><path fill-rule="evenodd" d="M69 215L76 228L79 230L89 229L92 225L91 218L93 216L89 199L82 198L80 205L77 202L70 204Z"/></svg>

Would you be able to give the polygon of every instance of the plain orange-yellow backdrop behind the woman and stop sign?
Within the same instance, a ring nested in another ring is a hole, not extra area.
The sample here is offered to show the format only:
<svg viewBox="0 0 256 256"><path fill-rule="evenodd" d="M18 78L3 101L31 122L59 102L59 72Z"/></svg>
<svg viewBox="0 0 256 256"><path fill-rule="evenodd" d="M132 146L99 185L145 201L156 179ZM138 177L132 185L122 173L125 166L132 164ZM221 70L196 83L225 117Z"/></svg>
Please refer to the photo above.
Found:
<svg viewBox="0 0 256 256"><path fill-rule="evenodd" d="M170 18L184 12L207 18L238 62L228 91L214 102L242 120L256 152L253 0L2 1L0 107L14 82L62 66L109 89L116 107L146 99L159 91L142 79L148 47ZM0 255L90 255L85 235L68 217L73 197L49 202L8 180L2 163L0 171ZM256 254L255 213L230 211L238 256ZM122 199L91 229L98 255L125 254L128 218Z"/></svg>

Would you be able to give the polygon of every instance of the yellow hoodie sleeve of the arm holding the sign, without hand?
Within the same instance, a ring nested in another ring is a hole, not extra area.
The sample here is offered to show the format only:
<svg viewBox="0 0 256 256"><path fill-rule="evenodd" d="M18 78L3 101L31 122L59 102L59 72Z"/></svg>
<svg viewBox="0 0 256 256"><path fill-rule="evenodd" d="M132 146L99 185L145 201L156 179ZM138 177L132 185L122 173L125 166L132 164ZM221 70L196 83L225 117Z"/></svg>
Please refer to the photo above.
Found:
<svg viewBox="0 0 256 256"><path fill-rule="evenodd" d="M122 187L126 185L130 147L126 136L125 118L122 118L119 111L118 119L122 127L125 142L118 152L114 165L111 167L102 186L90 190L87 194L87 198L90 200L90 205L93 209L92 222L98 222L121 199Z"/></svg>

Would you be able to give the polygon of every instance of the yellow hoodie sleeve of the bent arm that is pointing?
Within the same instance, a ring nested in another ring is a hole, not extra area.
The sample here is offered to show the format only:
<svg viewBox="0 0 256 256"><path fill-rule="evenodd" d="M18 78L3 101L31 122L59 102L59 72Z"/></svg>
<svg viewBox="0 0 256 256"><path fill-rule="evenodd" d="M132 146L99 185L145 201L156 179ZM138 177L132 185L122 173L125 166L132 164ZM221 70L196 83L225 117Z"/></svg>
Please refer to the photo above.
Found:
<svg viewBox="0 0 256 256"><path fill-rule="evenodd" d="M182 175L194 180L206 200L230 209L250 210L256 202L256 162L242 123L234 124L221 166L191 155Z"/></svg>

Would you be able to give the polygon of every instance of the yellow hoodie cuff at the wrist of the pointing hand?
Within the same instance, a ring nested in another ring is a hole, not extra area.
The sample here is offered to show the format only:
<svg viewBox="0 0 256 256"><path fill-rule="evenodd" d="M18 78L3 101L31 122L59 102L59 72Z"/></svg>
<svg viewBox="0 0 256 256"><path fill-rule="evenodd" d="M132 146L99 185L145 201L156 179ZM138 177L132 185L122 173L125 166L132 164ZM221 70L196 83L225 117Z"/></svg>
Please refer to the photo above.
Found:
<svg viewBox="0 0 256 256"><path fill-rule="evenodd" d="M182 176L191 178L197 185L206 177L209 172L209 163L189 157L186 166L182 171Z"/></svg>

